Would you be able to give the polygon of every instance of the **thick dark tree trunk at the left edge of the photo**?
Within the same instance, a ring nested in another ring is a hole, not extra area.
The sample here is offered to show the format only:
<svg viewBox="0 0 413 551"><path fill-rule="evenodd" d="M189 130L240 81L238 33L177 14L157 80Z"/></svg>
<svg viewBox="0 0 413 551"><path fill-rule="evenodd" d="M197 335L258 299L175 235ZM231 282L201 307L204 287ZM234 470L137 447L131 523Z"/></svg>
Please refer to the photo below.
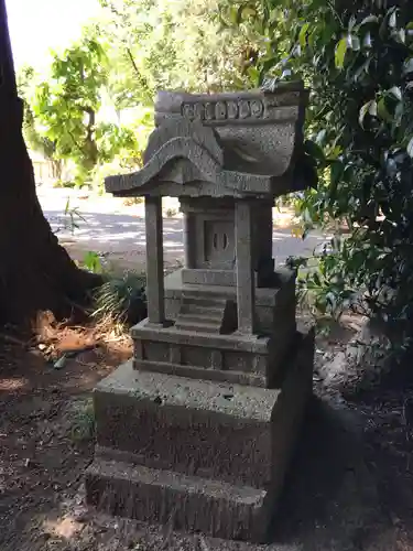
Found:
<svg viewBox="0 0 413 551"><path fill-rule="evenodd" d="M4 0L0 0L0 323L21 324L39 311L72 314L99 279L79 270L57 241L37 201L22 136Z"/></svg>

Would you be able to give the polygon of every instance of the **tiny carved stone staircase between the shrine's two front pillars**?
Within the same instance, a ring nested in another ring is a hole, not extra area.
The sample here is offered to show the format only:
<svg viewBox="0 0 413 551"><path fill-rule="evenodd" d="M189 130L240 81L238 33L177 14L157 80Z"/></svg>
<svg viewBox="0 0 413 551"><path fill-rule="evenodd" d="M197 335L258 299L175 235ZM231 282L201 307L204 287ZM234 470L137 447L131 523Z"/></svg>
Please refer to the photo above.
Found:
<svg viewBox="0 0 413 551"><path fill-rule="evenodd" d="M219 293L184 291L175 328L215 335L232 333L237 329L237 305Z"/></svg>

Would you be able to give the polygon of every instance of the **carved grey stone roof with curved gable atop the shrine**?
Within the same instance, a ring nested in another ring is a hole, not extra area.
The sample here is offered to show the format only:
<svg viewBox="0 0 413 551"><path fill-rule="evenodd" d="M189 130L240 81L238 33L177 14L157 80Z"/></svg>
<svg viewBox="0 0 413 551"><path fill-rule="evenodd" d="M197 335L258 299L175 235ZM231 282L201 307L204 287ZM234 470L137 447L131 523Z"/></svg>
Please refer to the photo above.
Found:
<svg viewBox="0 0 413 551"><path fill-rule="evenodd" d="M276 93L160 93L155 120L135 173L106 179L116 195L280 195L301 152L307 94L300 85Z"/></svg>

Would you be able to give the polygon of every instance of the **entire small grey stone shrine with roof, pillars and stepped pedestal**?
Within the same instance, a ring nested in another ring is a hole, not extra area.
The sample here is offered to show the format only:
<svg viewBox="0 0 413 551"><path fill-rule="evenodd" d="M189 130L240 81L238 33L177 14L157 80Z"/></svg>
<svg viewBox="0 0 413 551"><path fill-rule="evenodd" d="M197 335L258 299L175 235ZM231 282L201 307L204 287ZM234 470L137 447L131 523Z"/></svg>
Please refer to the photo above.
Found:
<svg viewBox="0 0 413 551"><path fill-rule="evenodd" d="M302 83L272 93L160 93L137 173L148 318L133 359L95 389L87 500L186 531L264 542L306 400L314 334L295 274L274 269L274 198L309 185ZM162 196L180 198L185 266L164 278Z"/></svg>

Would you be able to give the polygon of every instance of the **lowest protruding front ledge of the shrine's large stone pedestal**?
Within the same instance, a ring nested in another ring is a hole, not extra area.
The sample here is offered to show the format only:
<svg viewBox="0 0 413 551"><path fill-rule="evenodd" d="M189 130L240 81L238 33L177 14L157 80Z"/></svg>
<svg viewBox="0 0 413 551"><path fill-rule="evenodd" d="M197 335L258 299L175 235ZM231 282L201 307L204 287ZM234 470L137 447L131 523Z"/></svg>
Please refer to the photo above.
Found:
<svg viewBox="0 0 413 551"><path fill-rule="evenodd" d="M96 458L86 500L100 511L186 532L265 543L273 499L265 490Z"/></svg>

